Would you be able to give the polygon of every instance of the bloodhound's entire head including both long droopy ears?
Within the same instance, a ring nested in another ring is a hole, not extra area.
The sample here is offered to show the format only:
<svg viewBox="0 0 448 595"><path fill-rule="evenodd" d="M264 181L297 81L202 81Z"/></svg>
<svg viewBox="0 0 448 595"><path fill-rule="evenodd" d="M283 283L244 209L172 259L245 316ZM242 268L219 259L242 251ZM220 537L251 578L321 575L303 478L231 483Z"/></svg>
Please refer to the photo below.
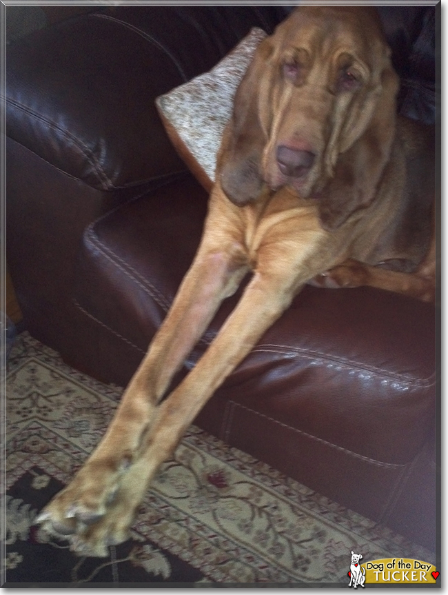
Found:
<svg viewBox="0 0 448 595"><path fill-rule="evenodd" d="M358 181L365 177L372 189L378 183L389 156L396 90L374 8L296 9L261 43L238 88L223 190L244 205L263 184L289 185L303 198L321 199L321 219L340 225L356 204L371 200ZM336 190L330 189L336 178ZM340 205L329 204L330 194Z"/></svg>

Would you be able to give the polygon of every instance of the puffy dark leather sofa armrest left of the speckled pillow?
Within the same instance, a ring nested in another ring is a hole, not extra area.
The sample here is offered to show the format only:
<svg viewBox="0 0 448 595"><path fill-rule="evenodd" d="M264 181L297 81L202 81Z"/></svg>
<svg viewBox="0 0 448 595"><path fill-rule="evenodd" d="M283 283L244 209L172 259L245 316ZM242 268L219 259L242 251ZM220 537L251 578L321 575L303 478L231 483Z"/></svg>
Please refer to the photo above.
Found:
<svg viewBox="0 0 448 595"><path fill-rule="evenodd" d="M143 183L183 168L154 109L181 82L132 30L71 19L8 50L7 134L98 190Z"/></svg>

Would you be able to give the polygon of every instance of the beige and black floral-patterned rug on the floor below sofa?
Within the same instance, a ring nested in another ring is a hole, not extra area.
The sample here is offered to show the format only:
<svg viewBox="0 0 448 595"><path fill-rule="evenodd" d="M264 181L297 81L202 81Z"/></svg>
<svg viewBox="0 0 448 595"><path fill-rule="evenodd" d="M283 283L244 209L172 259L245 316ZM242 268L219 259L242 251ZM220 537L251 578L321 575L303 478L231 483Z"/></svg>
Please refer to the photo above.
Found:
<svg viewBox="0 0 448 595"><path fill-rule="evenodd" d="M6 380L6 585L291 587L347 583L364 560L434 554L319 496L198 427L161 468L109 558L78 558L33 525L99 442L122 389L21 334Z"/></svg>

